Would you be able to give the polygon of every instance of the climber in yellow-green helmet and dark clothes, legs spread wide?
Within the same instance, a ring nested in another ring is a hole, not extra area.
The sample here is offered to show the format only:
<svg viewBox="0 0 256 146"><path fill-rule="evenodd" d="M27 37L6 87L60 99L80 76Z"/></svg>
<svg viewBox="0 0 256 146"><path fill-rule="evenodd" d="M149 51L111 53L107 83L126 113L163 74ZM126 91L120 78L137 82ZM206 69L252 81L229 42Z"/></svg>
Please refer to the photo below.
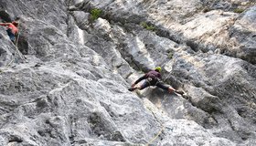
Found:
<svg viewBox="0 0 256 146"><path fill-rule="evenodd" d="M169 91L170 93L172 92L176 92L178 94L181 94L183 95L184 92L181 91L181 90L176 90L176 89L173 89L172 87L170 86L166 86L162 81L161 81L161 72L162 68L161 67L156 67L155 70L151 70L149 71L148 73L144 74L143 77L141 78L138 78L132 85L132 88L131 89L128 89L130 91L133 91L135 89L145 89L149 86L156 86L160 89L165 89L167 91ZM143 79L144 80L144 83L142 85L139 85L139 86L135 86L136 84L138 84L140 81L142 81Z"/></svg>

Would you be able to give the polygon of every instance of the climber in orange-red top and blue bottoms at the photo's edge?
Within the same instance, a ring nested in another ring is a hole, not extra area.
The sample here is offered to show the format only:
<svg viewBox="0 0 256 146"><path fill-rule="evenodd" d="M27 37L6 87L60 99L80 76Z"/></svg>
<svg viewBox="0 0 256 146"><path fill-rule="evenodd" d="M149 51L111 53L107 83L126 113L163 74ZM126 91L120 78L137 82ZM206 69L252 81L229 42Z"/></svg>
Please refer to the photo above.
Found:
<svg viewBox="0 0 256 146"><path fill-rule="evenodd" d="M0 23L0 26L6 26L6 32L14 44L16 42L16 34L18 33L18 19L19 18L17 17L12 23Z"/></svg>

